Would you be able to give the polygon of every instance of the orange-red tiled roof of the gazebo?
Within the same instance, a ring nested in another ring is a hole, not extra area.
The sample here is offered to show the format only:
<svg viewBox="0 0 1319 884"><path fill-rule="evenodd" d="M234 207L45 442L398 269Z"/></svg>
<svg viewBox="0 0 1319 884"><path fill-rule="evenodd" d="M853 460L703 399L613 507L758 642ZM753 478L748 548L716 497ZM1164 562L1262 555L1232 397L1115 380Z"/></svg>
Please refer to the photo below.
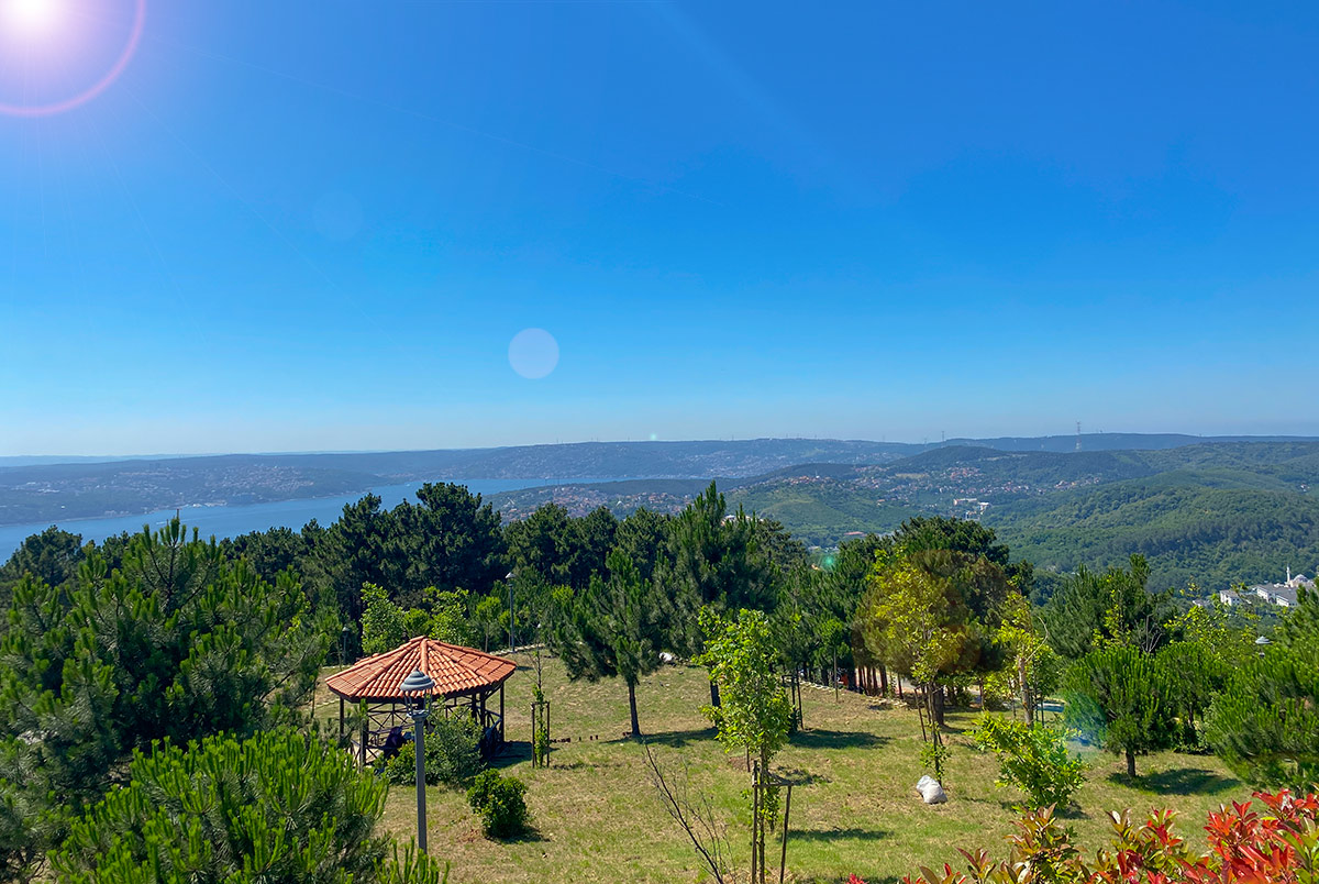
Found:
<svg viewBox="0 0 1319 884"><path fill-rule="evenodd" d="M479 694L503 685L517 664L504 657L418 636L393 650L359 660L326 678L331 691L344 699L405 699L400 690L413 669L431 677L429 697Z"/></svg>

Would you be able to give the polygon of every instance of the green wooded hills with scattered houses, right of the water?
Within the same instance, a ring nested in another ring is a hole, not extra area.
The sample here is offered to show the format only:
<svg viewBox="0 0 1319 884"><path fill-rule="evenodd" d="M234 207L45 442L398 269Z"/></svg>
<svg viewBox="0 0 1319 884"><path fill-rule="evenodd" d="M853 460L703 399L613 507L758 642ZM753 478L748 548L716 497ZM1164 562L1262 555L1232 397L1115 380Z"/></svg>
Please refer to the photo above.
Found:
<svg viewBox="0 0 1319 884"><path fill-rule="evenodd" d="M704 482L561 486L497 495L521 517L555 500L675 512ZM732 505L809 544L888 532L913 515L979 517L1041 569L1151 559L1155 586L1206 590L1319 569L1319 442L1199 442L1126 451L947 445L885 464L814 463L720 480ZM987 504L981 507L981 504Z"/></svg>

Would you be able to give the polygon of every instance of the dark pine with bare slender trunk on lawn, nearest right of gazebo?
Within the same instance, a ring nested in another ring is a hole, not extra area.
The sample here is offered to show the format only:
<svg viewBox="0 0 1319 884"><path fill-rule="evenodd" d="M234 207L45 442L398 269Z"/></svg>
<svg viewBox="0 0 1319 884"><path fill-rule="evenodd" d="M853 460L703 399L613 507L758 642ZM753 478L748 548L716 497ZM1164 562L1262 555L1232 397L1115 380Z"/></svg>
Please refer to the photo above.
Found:
<svg viewBox="0 0 1319 884"><path fill-rule="evenodd" d="M596 574L555 619L553 645L572 679L623 678L632 734L640 735L637 685L660 665L661 599L620 549L609 553L608 578Z"/></svg>

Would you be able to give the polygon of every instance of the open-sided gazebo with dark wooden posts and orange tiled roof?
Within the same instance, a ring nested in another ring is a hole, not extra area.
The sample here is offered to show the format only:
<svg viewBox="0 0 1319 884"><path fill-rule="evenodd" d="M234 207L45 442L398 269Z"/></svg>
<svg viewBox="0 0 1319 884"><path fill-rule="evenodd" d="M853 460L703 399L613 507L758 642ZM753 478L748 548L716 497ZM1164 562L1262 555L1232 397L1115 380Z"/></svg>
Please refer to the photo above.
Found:
<svg viewBox="0 0 1319 884"><path fill-rule="evenodd" d="M445 698L446 712L468 711L481 728L481 749L489 751L504 742L504 682L517 664L474 648L451 645L418 636L393 650L359 660L352 666L326 678L326 686L339 695L339 736L344 736L344 705L361 703L365 719L356 755L365 765L384 748L384 739L394 727L404 726L406 697L401 686L413 669L419 669L435 682L426 697ZM487 709L487 701L499 691L499 712Z"/></svg>

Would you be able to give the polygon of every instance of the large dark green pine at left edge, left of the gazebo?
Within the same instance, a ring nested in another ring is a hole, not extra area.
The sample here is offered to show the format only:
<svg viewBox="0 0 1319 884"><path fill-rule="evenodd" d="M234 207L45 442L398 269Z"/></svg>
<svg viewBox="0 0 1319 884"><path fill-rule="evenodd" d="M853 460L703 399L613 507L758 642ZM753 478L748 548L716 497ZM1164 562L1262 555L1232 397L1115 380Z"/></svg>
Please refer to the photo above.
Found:
<svg viewBox="0 0 1319 884"><path fill-rule="evenodd" d="M57 838L133 748L303 720L332 624L315 621L291 574L268 583L178 520L133 537L123 562L107 573L92 552L61 591L30 577L15 587L0 641L0 858Z"/></svg>

